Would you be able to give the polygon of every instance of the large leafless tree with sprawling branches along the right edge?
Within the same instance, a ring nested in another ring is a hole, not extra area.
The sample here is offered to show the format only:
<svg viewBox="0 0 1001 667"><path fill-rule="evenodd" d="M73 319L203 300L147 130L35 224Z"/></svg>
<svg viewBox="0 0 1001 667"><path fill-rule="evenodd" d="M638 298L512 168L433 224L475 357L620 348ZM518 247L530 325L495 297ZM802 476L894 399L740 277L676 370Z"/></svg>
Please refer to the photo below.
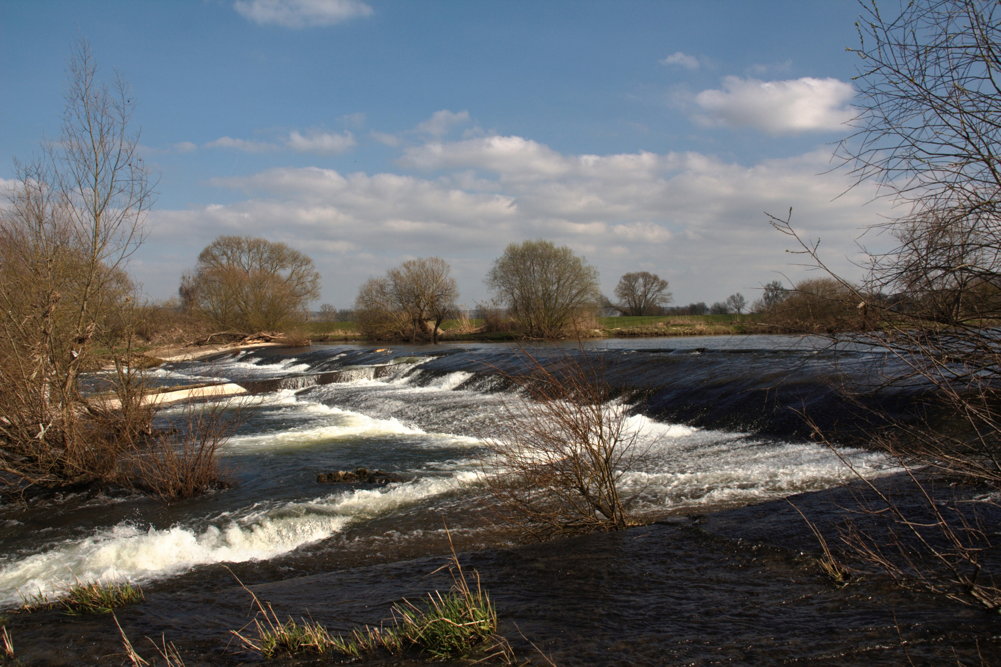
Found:
<svg viewBox="0 0 1001 667"><path fill-rule="evenodd" d="M857 131L838 154L857 182L875 181L899 215L878 225L895 241L871 253L861 285L824 264L818 243L791 218L773 225L855 304L861 333L834 342L870 345L882 386L920 387L934 420L897 422L872 442L910 474L920 509L872 489L879 533L847 537L853 553L902 585L991 609L1001 604L981 555L996 549L996 525L978 506L943 505L939 478L1001 488L1001 14L987 0L918 0L884 13L863 5L859 26ZM885 296L889 295L889 296ZM872 387L863 387L869 391Z"/></svg>

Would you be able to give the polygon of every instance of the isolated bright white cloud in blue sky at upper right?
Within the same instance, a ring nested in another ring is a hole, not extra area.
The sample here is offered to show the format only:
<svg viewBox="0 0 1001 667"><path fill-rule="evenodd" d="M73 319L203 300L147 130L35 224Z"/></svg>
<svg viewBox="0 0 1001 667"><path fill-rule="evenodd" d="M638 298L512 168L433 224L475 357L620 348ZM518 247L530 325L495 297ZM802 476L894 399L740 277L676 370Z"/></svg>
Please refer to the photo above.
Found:
<svg viewBox="0 0 1001 667"><path fill-rule="evenodd" d="M706 112L696 116L705 125L783 134L844 130L844 123L856 115L850 106L854 97L852 84L833 78L760 81L727 76L722 90L704 90L694 101Z"/></svg>

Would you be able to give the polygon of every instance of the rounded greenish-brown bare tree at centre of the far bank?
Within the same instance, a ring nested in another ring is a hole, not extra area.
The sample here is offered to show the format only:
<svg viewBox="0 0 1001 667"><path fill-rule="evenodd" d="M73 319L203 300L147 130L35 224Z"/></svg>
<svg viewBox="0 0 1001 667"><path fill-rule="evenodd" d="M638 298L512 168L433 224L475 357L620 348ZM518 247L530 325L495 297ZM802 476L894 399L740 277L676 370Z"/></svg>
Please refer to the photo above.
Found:
<svg viewBox="0 0 1001 667"><path fill-rule="evenodd" d="M595 309L598 269L567 246L512 243L484 281L530 336L558 336Z"/></svg>

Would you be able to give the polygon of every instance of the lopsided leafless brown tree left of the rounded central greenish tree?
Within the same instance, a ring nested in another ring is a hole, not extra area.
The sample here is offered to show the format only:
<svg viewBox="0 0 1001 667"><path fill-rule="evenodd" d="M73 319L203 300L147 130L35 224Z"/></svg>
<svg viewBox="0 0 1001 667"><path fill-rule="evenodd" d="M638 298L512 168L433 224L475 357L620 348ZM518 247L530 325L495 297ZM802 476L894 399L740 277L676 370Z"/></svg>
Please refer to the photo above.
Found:
<svg viewBox="0 0 1001 667"><path fill-rule="evenodd" d="M448 263L427 257L405 261L384 278L366 281L354 309L369 336L407 337L411 342L429 338L436 343L441 323L457 314L457 299L458 286Z"/></svg>

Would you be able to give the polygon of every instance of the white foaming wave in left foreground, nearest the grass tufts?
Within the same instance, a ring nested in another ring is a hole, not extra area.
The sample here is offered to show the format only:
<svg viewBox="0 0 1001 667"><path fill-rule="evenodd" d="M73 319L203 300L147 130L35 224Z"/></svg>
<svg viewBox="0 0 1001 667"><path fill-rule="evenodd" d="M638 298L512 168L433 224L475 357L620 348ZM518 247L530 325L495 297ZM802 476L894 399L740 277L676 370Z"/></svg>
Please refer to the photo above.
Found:
<svg viewBox="0 0 1001 667"><path fill-rule="evenodd" d="M111 579L144 582L180 574L198 565L274 558L341 530L424 498L454 490L457 476L425 477L384 489L332 493L309 502L264 507L259 503L226 513L199 527L142 530L121 522L83 540L67 540L0 569L0 605L24 594L51 593L60 585ZM234 516L240 515L240 516Z"/></svg>

